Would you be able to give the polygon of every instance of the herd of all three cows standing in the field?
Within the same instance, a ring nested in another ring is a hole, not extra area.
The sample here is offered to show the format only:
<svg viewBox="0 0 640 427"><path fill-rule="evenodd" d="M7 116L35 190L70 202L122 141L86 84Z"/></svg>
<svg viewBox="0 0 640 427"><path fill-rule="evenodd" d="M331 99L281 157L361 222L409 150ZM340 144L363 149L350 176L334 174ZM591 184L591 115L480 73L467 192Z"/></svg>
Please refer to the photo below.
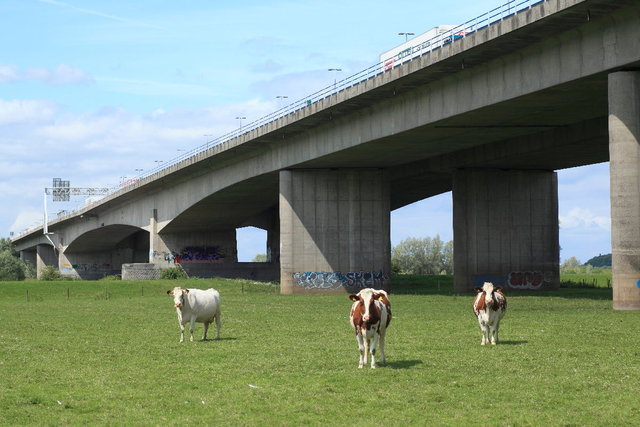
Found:
<svg viewBox="0 0 640 427"><path fill-rule="evenodd" d="M475 288L477 295L473 301L473 312L478 318L482 331L481 344L497 344L500 320L507 311L507 298L502 288L485 282L481 288ZM209 325L216 322L216 339L220 338L220 293L215 289L182 289L175 287L167 294L173 297L180 324L180 342L184 341L184 325L190 324L189 332L193 341L195 323L204 324L202 339L207 339ZM349 312L349 322L356 333L362 368L371 358L371 367L386 363L384 356L384 339L387 327L391 323L391 302L389 295L379 289L365 288L357 294L349 295L353 302ZM380 362L376 363L375 355L380 348Z"/></svg>

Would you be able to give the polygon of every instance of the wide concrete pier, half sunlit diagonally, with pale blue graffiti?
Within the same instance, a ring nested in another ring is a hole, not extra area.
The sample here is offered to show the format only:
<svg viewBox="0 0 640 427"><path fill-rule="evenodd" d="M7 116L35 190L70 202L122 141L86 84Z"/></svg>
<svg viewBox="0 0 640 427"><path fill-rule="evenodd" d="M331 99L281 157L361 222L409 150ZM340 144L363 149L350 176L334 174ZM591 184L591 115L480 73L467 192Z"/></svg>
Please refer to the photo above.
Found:
<svg viewBox="0 0 640 427"><path fill-rule="evenodd" d="M389 289L389 185L381 170L280 172L281 293Z"/></svg>

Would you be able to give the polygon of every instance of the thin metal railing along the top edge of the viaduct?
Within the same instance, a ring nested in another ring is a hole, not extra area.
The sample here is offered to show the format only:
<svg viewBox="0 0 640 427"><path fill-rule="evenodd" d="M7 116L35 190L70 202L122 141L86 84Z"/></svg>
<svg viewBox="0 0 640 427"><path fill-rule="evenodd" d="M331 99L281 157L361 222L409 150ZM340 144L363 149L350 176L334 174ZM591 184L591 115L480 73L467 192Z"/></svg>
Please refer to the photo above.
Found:
<svg viewBox="0 0 640 427"><path fill-rule="evenodd" d="M358 71L357 73L352 74L348 77L345 77L342 80L336 81L334 84L324 87L316 92L313 92L305 96L304 98L301 98L283 108L280 108L272 113L267 114L266 116L260 117L259 119L249 122L245 126L242 126L239 129L233 130L231 132L228 132L216 138L207 140L205 144L202 144L190 151L184 152L180 156L174 157L166 162L163 162L158 166L156 166L155 168L147 170L144 173L141 173L135 176L134 178L121 183L121 185L119 185L118 187L114 187L113 191L110 192L108 195L114 194L121 190L126 191L129 187L132 187L139 181L145 178L148 178L150 176L153 176L187 159L194 158L195 156L200 155L217 145L220 145L226 141L232 140L248 132L251 132L255 129L258 129L261 126L274 122L275 120L278 120L289 114L293 114L297 111L300 111L305 107L312 105L318 101L321 101L325 98L328 98L332 95L335 95L338 92L341 92L357 84L360 84L377 75L383 74L386 71L389 71L390 69L392 69L393 67L406 63L408 61L415 60L416 58L419 58L436 49L440 49L444 45L447 45L449 43L455 43L463 39L464 37L470 36L471 34L475 33L478 30L497 24L505 18L509 18L517 13L526 11L537 4L544 3L545 1L548 1L548 0L507 1L506 3L496 7L495 9L492 9L486 13L483 13L482 15L479 15L473 19L470 19L469 21L463 24L460 24L442 34L438 34L434 36L433 38L429 39L427 42L420 42L414 46L409 46L407 48L407 49L411 49L411 53L409 55L403 54L403 56L401 57L400 54L396 54L389 58L384 58L382 61L376 64L373 64L370 67L367 67L361 71ZM403 50L403 52L405 51L406 49ZM389 66L390 62L392 62L391 66ZM99 200L94 203L98 203L98 202ZM83 206L82 209L85 209L86 207L87 206ZM73 215L73 213L76 212L77 210L80 210L80 208L69 211L69 213L66 216Z"/></svg>

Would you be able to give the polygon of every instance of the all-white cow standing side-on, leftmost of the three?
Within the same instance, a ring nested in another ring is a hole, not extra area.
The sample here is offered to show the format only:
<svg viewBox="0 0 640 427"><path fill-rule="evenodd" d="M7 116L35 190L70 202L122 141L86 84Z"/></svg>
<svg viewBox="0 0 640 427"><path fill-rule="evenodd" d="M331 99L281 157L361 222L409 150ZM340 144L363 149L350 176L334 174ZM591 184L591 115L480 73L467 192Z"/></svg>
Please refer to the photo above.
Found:
<svg viewBox="0 0 640 427"><path fill-rule="evenodd" d="M193 341L196 322L204 323L202 340L207 339L209 325L216 321L216 339L220 339L220 293L215 289L182 289L179 286L167 291L173 297L180 323L180 342L184 341L184 325L191 323L189 332Z"/></svg>

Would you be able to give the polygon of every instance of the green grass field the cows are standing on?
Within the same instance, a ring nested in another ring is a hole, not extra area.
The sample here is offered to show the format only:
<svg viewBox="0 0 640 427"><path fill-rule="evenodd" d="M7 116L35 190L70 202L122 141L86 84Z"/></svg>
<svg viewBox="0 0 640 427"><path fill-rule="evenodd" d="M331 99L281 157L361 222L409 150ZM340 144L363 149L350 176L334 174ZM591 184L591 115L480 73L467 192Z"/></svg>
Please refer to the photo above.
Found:
<svg viewBox="0 0 640 427"><path fill-rule="evenodd" d="M0 282L2 425L631 425L640 312L610 289L508 294L480 346L471 295L399 281L388 365L358 369L346 295L189 280L222 339L180 344L175 282ZM438 288L439 287L439 288ZM196 337L202 325L196 327ZM361 420L364 420L362 422Z"/></svg>

